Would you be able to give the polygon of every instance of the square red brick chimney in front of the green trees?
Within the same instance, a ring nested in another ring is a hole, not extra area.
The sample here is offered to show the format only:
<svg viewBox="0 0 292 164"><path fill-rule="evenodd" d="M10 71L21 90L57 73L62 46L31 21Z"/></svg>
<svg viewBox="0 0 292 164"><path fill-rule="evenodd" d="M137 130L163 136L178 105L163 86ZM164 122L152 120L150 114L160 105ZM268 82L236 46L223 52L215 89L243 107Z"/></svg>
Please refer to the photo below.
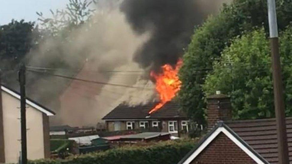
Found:
<svg viewBox="0 0 292 164"><path fill-rule="evenodd" d="M212 129L218 121L232 118L230 97L216 91L216 94L207 97L207 124Z"/></svg>

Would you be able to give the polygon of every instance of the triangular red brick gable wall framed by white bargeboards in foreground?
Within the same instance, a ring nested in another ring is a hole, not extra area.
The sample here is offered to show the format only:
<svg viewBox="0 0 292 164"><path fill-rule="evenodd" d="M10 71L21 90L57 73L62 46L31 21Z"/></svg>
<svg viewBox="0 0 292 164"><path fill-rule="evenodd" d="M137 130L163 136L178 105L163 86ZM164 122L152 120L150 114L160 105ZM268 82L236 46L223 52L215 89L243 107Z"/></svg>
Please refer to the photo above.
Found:
<svg viewBox="0 0 292 164"><path fill-rule="evenodd" d="M255 161L225 134L220 133L191 163L245 164L255 163Z"/></svg>

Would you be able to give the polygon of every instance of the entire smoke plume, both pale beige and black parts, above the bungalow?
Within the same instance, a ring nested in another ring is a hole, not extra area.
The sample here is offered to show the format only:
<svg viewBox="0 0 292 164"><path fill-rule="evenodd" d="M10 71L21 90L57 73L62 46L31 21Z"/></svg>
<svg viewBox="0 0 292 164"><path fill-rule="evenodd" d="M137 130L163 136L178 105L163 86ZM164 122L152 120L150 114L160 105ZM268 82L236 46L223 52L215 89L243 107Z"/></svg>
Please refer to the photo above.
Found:
<svg viewBox="0 0 292 164"><path fill-rule="evenodd" d="M62 64L72 69L55 74L133 88L30 73L28 95L56 111L51 125L95 125L121 102L153 101L149 70L175 64L194 25L216 13L223 1L228 0L105 0L89 22L69 32L70 42L62 36L45 39L28 54L28 65Z"/></svg>

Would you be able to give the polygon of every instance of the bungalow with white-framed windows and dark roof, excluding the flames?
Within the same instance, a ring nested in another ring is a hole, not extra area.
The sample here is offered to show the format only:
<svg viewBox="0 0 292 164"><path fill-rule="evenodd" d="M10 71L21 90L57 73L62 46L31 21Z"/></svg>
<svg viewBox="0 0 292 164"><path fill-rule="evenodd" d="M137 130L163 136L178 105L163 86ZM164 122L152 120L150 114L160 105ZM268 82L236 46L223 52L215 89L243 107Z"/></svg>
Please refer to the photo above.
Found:
<svg viewBox="0 0 292 164"><path fill-rule="evenodd" d="M149 115L148 112L156 104L157 102L138 106L120 104L102 119L106 122L107 131L140 128L173 134L178 133L179 130L188 131L188 118L179 110L177 102L168 102L160 110Z"/></svg>

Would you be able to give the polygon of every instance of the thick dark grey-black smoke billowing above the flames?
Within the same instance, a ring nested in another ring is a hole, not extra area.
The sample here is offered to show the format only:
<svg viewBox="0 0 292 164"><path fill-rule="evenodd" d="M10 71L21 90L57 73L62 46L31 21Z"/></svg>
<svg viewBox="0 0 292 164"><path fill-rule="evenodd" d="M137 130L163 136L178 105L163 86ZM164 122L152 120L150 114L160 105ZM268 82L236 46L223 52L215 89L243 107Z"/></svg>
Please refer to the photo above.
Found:
<svg viewBox="0 0 292 164"><path fill-rule="evenodd" d="M153 34L136 51L134 61L142 68L151 65L153 70L166 63L175 64L194 26L209 13L216 13L223 1L227 0L124 0L120 10L132 28L139 34L148 30Z"/></svg>

